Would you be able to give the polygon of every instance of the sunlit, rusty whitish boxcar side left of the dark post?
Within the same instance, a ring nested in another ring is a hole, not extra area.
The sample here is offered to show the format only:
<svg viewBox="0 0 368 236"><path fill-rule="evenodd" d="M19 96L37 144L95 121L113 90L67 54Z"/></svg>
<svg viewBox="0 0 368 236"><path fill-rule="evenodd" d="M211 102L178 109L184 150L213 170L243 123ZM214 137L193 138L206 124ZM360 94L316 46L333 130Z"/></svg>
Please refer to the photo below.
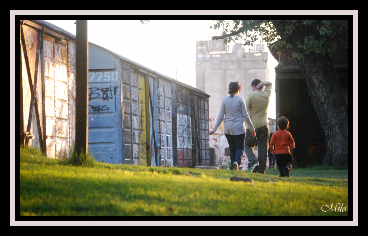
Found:
<svg viewBox="0 0 368 236"><path fill-rule="evenodd" d="M37 23L25 22L20 42L21 127L32 135L25 144L49 158L66 158L75 139L75 45L44 35L48 30Z"/></svg>

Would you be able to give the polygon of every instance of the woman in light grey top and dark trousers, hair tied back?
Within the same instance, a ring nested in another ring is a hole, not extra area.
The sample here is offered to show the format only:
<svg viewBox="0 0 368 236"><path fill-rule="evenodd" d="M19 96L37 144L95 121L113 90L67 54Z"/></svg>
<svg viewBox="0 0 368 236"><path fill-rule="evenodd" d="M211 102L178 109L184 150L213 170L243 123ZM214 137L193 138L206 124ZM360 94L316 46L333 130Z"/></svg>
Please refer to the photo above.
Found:
<svg viewBox="0 0 368 236"><path fill-rule="evenodd" d="M229 94L221 102L219 116L215 127L209 131L212 135L224 121L224 134L229 143L231 167L234 171L239 169L241 158L244 155L245 122L250 127L252 138L255 138L255 129L249 118L243 97L238 96L241 90L239 82L230 82ZM225 117L225 118L224 118Z"/></svg>

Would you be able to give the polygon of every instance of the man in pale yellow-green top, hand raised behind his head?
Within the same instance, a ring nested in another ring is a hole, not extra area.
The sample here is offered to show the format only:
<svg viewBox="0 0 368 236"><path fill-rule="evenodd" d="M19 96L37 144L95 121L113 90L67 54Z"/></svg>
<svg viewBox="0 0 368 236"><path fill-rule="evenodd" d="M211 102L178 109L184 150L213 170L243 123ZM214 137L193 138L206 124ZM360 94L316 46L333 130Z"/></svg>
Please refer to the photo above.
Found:
<svg viewBox="0 0 368 236"><path fill-rule="evenodd" d="M269 81L261 81L254 79L251 83L252 92L247 94L245 98L245 106L249 117L255 128L258 144L258 160L255 158L254 146L255 139L252 139L251 132L247 125L245 132L245 155L251 164L251 173L265 174L267 169L268 145L270 129L268 126L268 103L271 97L272 83ZM266 86L265 90L263 86Z"/></svg>

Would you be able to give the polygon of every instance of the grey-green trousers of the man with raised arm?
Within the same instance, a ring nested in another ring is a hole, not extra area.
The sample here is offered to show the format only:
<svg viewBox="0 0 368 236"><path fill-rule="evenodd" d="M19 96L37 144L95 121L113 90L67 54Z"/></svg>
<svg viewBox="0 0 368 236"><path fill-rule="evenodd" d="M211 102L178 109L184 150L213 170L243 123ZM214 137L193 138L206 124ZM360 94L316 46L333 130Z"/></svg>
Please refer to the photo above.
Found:
<svg viewBox="0 0 368 236"><path fill-rule="evenodd" d="M265 174L267 169L268 160L268 144L270 137L270 129L268 124L260 128L255 129L256 139L252 138L250 129L245 132L245 155L247 155L248 161L253 167L256 163L259 164L257 173ZM258 160L254 154L255 142L258 144Z"/></svg>

